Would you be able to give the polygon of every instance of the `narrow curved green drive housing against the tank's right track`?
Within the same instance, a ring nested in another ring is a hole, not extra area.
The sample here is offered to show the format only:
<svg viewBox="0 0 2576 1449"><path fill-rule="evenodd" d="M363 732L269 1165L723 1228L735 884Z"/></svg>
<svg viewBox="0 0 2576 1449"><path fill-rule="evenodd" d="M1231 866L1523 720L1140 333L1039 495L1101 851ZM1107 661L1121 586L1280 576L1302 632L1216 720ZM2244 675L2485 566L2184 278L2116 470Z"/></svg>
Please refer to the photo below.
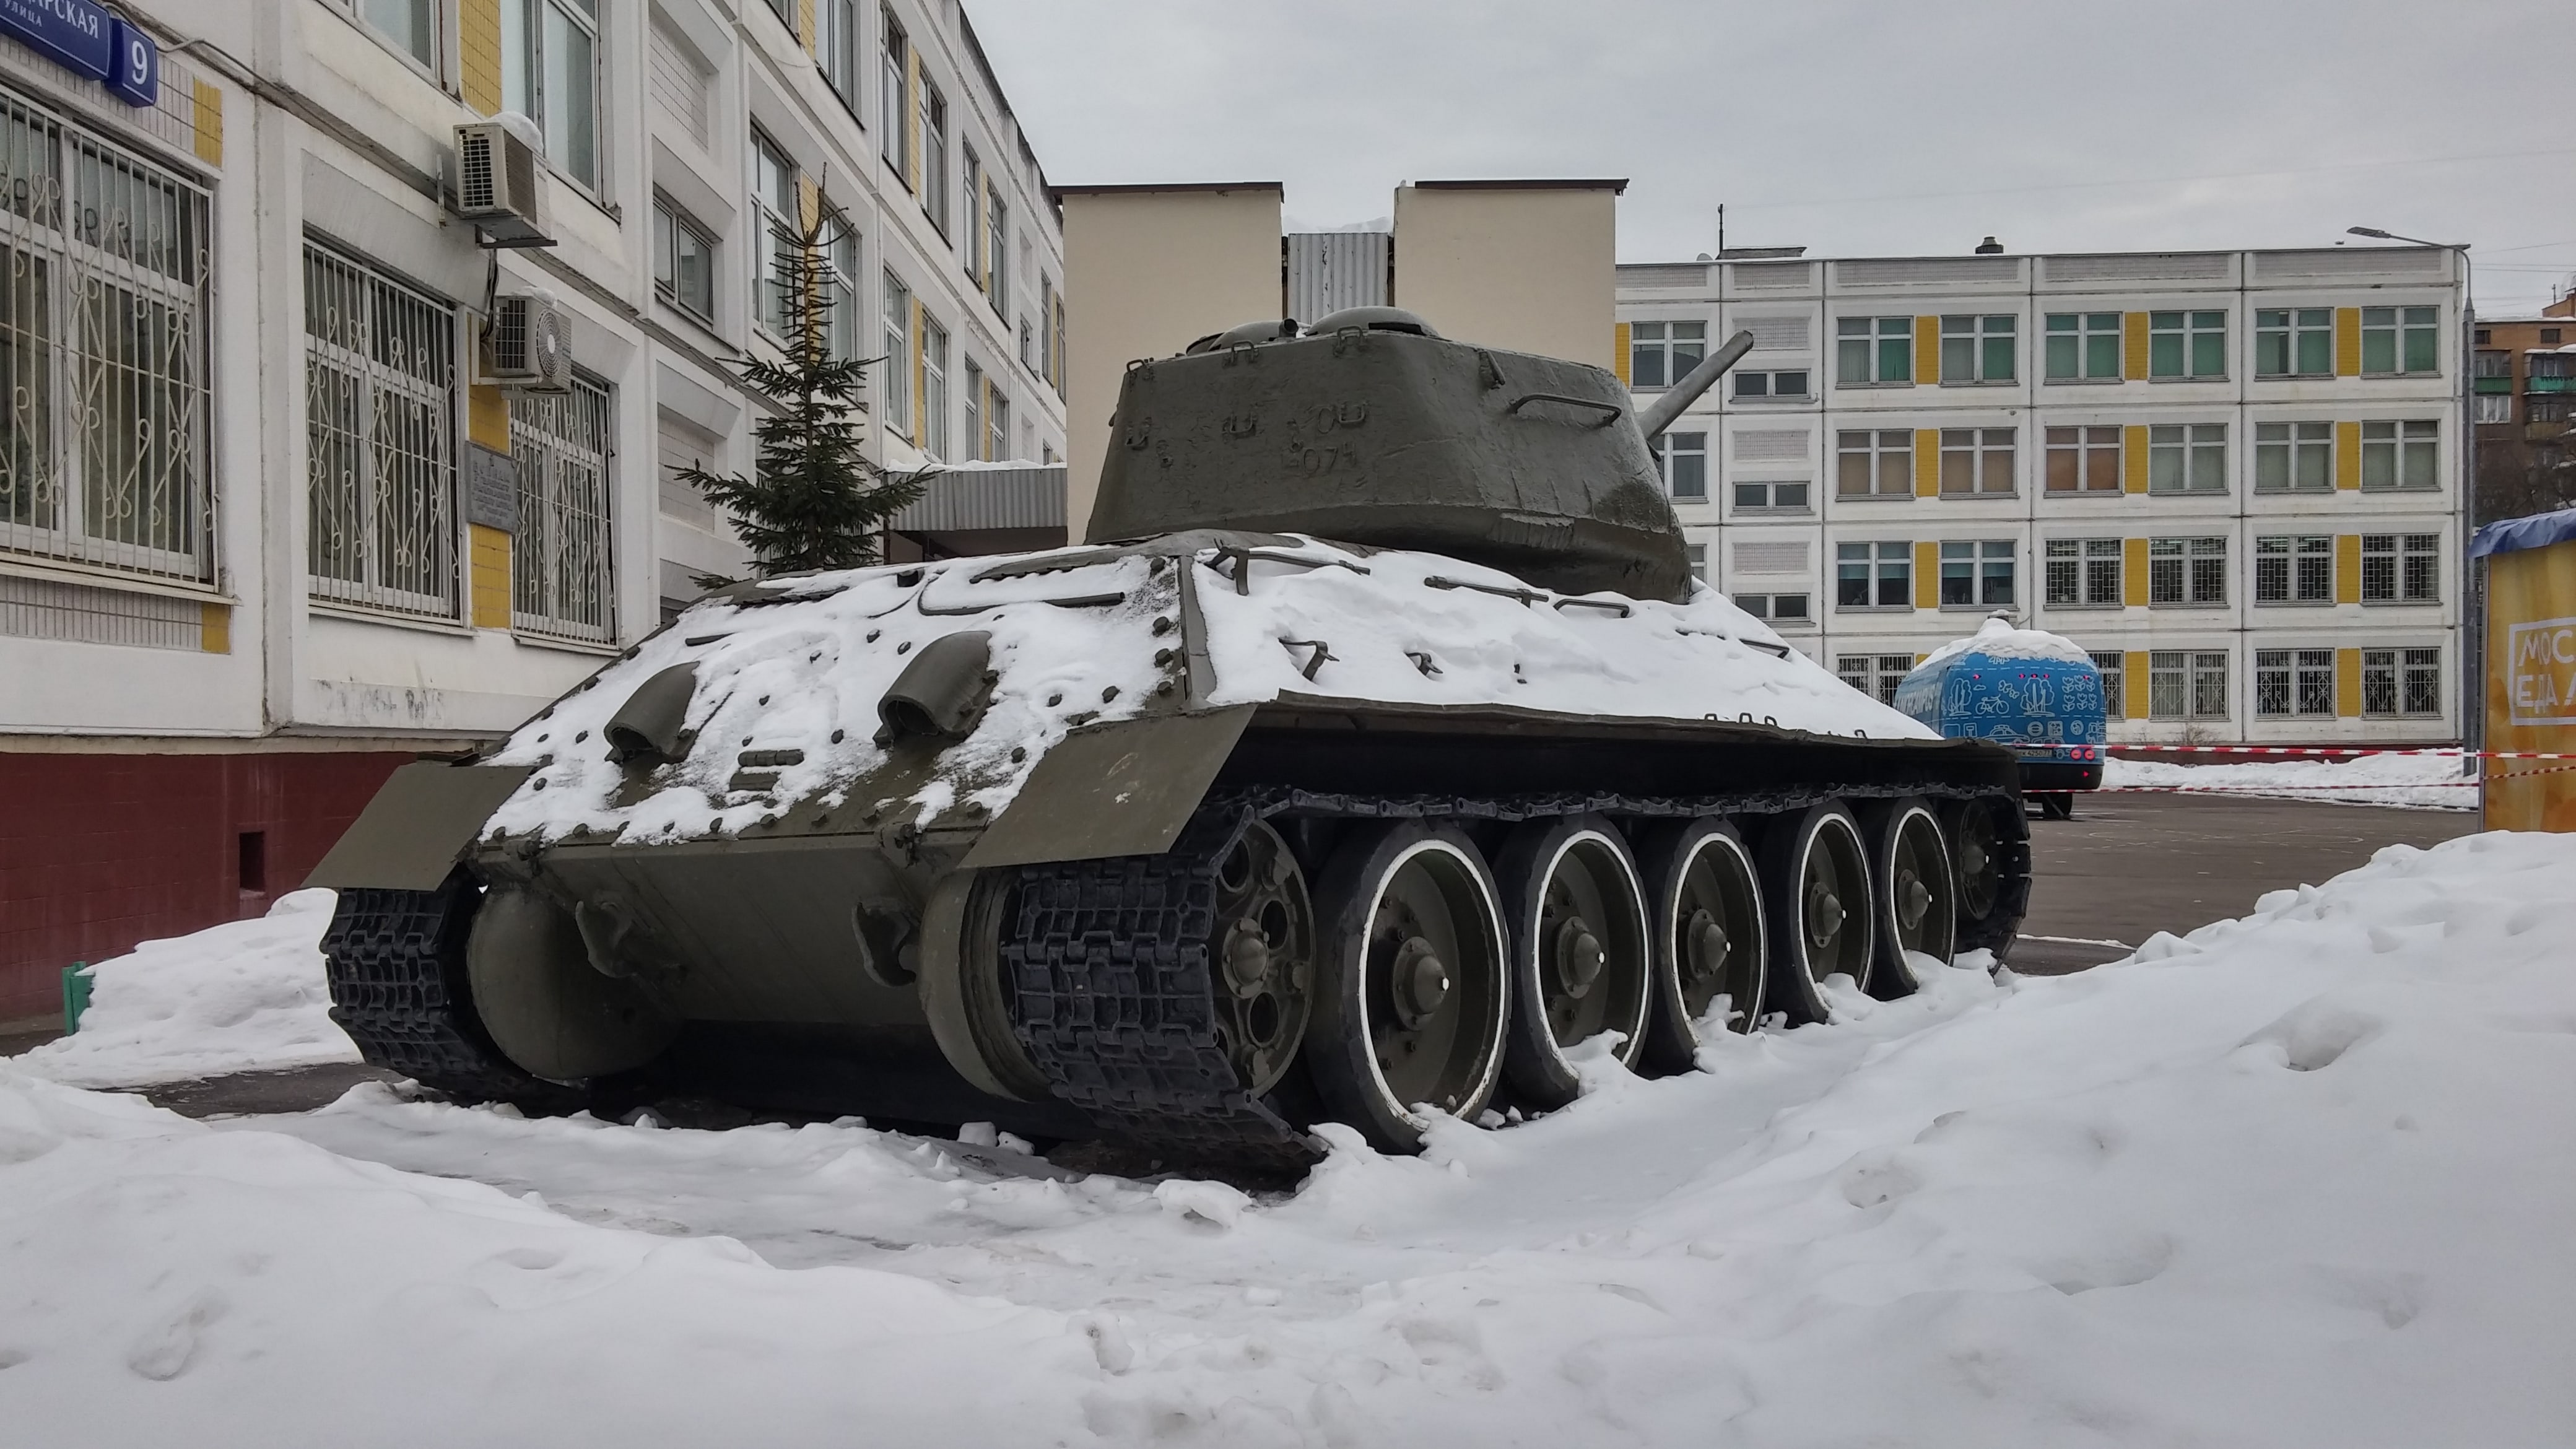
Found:
<svg viewBox="0 0 2576 1449"><path fill-rule="evenodd" d="M922 910L922 1016L940 1055L976 1091L1051 1101L1046 1073L1010 1026L1002 931L1012 923L1020 871L958 869L940 877Z"/></svg>

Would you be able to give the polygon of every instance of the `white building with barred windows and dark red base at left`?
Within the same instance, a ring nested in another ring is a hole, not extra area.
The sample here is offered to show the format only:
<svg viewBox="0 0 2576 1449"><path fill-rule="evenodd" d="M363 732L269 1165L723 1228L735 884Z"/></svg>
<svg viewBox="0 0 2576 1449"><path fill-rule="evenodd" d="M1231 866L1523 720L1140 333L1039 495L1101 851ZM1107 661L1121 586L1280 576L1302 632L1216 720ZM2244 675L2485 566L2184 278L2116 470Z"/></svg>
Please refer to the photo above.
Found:
<svg viewBox="0 0 2576 1449"><path fill-rule="evenodd" d="M152 88L82 70L90 0L0 8L0 1018L739 570L670 472L750 469L827 204L878 456L1061 456L1061 227L956 0L118 10ZM541 217L461 214L495 116ZM492 317L569 371L505 384Z"/></svg>

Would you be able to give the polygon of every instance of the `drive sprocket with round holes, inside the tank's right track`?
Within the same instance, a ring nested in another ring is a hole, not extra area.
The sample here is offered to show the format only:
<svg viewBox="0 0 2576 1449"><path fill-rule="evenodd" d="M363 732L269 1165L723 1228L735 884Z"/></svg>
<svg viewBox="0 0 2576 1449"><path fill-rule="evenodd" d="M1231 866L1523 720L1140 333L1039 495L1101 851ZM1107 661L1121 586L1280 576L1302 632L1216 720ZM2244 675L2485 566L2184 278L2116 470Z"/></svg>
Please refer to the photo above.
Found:
<svg viewBox="0 0 2576 1449"><path fill-rule="evenodd" d="M1314 1013L1314 902L1288 843L1255 820L1216 861L1216 1039L1244 1091L1278 1085Z"/></svg>

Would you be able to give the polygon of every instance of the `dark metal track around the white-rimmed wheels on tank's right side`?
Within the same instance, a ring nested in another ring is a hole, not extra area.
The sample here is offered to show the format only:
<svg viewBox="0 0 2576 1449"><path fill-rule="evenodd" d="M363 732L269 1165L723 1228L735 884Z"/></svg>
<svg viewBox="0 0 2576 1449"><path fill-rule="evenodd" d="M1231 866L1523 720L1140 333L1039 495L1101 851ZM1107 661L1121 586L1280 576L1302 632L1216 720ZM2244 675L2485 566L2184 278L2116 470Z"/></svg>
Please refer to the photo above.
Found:
<svg viewBox="0 0 2576 1449"><path fill-rule="evenodd" d="M1105 1132L1175 1160L1303 1171L1321 1155L1319 1142L1244 1091L1216 1039L1216 977L1208 967L1216 864L1252 820L1517 822L1579 812L1669 820L1780 815L1824 799L1899 794L1963 799L1999 792L1819 784L1726 797L1368 797L1306 789L1211 797L1162 856L1020 866L1012 933L1002 941L1012 1031L1056 1096ZM2007 846L2009 884L1996 918L2017 926L2030 902L2027 835Z"/></svg>

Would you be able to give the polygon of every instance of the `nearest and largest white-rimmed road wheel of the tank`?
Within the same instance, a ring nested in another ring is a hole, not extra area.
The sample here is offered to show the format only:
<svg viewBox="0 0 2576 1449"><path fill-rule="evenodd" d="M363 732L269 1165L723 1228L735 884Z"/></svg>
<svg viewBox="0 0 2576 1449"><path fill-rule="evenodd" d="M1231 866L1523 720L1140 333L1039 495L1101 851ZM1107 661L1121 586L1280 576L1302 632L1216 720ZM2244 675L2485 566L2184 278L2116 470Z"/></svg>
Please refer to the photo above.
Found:
<svg viewBox="0 0 2576 1449"><path fill-rule="evenodd" d="M1306 1062L1324 1106L1383 1152L1430 1119L1473 1116L1502 1073L1510 972L1502 902L1453 825L1363 828L1316 892L1324 926Z"/></svg>

